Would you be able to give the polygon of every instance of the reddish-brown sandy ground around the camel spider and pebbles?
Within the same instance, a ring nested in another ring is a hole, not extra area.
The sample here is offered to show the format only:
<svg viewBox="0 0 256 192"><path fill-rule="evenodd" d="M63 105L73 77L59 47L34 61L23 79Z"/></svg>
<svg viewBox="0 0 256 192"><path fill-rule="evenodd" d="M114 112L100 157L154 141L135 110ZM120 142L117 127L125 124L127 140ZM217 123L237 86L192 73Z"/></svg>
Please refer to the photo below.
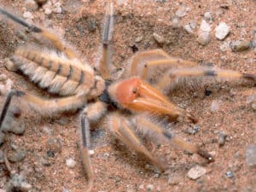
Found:
<svg viewBox="0 0 256 192"><path fill-rule="evenodd" d="M119 1L114 5L113 66L125 67L134 50L164 49L168 54L184 60L201 63L213 63L216 67L255 73L256 49L232 52L222 51L225 42L244 39L253 40L256 30L256 2L248 1ZM26 6L23 1L1 0L1 6L15 10L23 15ZM74 19L81 5L84 11L80 18ZM178 9L186 7L186 15L180 18L180 26L173 26L173 18ZM32 21L62 34L67 42L81 53L93 66L98 61L102 34L102 20L105 11L104 1L61 1L62 14L33 10ZM197 34L204 14L212 13L211 42L202 46L197 42ZM230 26L230 34L224 41L214 37L214 28L220 21ZM194 33L183 28L195 23ZM163 38L159 44L154 32ZM20 35L21 34L21 35ZM23 35L22 35L23 34ZM14 87L29 91L35 95L49 96L39 90L35 84L20 74L9 72L3 67L3 59L14 53L15 47L29 38L23 29L12 23L1 21L0 28L0 73L14 81ZM140 41L138 39L141 38ZM254 38L256 41L256 39ZM195 125L175 123L172 131L191 143L207 148L215 161L208 164L196 154L190 155L168 145L159 146L156 154L164 157L170 169L164 173L156 172L148 164L122 146L110 142L109 132L99 127L93 132L95 154L92 156L96 172L93 191L256 191L256 170L247 166L246 148L256 143L256 113L248 98L256 94L253 84L218 84L212 86L212 93L206 96L206 88L190 91L181 89L170 93L173 102L183 108L189 108L199 119L199 131L189 134ZM212 102L218 102L218 110L211 111ZM6 143L1 150L9 154L13 148L26 150L26 158L11 166L17 172L26 172L27 182L32 191L85 191L87 180L81 166L77 145L78 116L63 114L56 119L41 119L37 115L25 113L20 118L26 131L23 136L13 133L6 135ZM218 146L218 134L224 131L227 141ZM50 137L61 141L61 152L49 157L47 141ZM15 146L15 147L14 147ZM76 165L70 169L66 160L73 158ZM42 160L44 162L42 163ZM46 161L46 163L45 163ZM197 180L187 177L189 169L195 165L203 166L207 173ZM0 189L5 188L9 180L6 168L0 164ZM228 177L231 172L233 177Z"/></svg>

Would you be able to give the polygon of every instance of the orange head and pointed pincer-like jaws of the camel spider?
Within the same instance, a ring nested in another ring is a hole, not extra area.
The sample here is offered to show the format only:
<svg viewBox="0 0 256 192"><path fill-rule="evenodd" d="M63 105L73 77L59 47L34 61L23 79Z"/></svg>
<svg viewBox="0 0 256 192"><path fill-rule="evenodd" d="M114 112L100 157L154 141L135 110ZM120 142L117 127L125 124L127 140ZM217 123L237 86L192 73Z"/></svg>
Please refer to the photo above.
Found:
<svg viewBox="0 0 256 192"><path fill-rule="evenodd" d="M109 95L123 108L134 112L168 115L171 119L196 119L184 109L178 108L150 84L135 77L125 79L108 88Z"/></svg>

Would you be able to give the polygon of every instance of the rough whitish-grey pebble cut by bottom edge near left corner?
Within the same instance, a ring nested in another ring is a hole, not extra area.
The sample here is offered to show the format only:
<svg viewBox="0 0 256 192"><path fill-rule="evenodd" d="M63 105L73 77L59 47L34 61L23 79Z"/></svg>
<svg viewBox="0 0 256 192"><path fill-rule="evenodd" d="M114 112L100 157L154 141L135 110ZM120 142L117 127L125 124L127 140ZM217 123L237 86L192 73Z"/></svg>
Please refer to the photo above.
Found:
<svg viewBox="0 0 256 192"><path fill-rule="evenodd" d="M32 185L26 182L25 177L19 174L12 175L6 184L6 191L31 191Z"/></svg>

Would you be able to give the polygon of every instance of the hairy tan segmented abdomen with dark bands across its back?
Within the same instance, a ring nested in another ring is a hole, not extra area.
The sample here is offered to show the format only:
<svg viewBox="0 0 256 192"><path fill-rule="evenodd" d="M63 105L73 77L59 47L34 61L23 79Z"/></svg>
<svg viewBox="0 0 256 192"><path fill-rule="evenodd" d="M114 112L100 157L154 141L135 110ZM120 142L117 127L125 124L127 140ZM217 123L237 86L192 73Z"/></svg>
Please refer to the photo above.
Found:
<svg viewBox="0 0 256 192"><path fill-rule="evenodd" d="M15 64L41 88L61 96L83 91L85 94L95 83L93 69L77 60L68 60L55 52L41 52L20 48L15 51Z"/></svg>

